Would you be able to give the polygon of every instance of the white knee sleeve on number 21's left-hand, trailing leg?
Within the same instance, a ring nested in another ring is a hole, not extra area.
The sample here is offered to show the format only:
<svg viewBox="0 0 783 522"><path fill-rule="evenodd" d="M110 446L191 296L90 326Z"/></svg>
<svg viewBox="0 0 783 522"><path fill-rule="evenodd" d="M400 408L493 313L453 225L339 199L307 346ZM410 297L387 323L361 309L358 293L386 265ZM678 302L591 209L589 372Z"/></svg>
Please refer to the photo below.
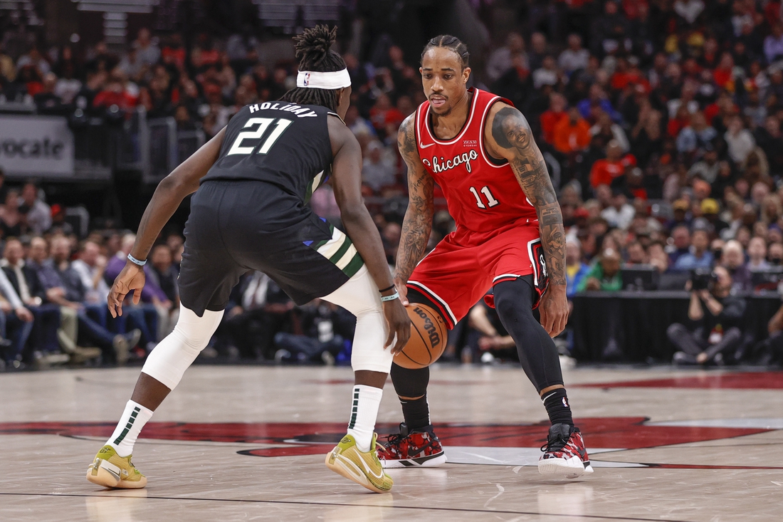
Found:
<svg viewBox="0 0 783 522"><path fill-rule="evenodd" d="M198 317L196 312L180 304L174 332L166 335L150 352L142 372L174 390L182 374L209 343L222 317L223 310L204 310L204 317Z"/></svg>

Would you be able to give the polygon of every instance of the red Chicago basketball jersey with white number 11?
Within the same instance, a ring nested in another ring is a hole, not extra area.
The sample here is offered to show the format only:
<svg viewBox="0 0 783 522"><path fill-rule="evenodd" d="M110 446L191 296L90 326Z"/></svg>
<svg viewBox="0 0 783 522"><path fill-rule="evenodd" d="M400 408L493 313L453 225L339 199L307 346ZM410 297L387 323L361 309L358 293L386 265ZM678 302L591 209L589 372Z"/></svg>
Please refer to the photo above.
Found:
<svg viewBox="0 0 783 522"><path fill-rule="evenodd" d="M451 140L438 140L432 132L429 101L416 111L419 157L446 196L456 235L482 237L525 224L537 227L536 209L519 187L511 165L490 158L484 145L489 109L497 101L511 102L481 89L470 92L467 121Z"/></svg>

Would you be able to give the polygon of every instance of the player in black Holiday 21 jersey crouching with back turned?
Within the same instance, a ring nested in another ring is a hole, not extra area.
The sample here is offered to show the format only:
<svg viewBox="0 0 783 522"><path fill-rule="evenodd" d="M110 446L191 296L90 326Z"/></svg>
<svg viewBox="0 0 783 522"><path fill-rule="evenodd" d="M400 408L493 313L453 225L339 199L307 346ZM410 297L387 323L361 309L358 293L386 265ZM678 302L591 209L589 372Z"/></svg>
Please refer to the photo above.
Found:
<svg viewBox="0 0 783 522"><path fill-rule="evenodd" d="M231 288L248 270L260 270L297 304L319 297L355 314L352 416L326 463L371 491L391 489L373 430L392 354L405 346L410 320L361 196L361 148L342 121L351 81L341 56L330 50L336 32L319 26L295 38L297 88L280 101L242 108L155 190L108 305L116 317L128 293L139 302L153 242L195 192L179 274L179 322L147 357L117 429L88 468L91 482L146 485L131 463L136 437L207 346ZM306 205L327 179L348 235Z"/></svg>

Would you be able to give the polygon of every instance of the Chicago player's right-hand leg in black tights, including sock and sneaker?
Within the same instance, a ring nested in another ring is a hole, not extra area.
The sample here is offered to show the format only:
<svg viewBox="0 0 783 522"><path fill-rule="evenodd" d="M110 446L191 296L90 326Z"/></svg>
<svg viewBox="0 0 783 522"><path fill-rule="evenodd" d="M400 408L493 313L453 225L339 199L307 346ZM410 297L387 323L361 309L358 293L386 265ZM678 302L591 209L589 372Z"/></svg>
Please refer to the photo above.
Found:
<svg viewBox="0 0 783 522"><path fill-rule="evenodd" d="M592 473L582 434L574 426L568 405L557 347L532 314L539 299L534 276L496 283L493 298L503 327L517 345L525 375L536 386L552 423L539 471L568 478Z"/></svg>

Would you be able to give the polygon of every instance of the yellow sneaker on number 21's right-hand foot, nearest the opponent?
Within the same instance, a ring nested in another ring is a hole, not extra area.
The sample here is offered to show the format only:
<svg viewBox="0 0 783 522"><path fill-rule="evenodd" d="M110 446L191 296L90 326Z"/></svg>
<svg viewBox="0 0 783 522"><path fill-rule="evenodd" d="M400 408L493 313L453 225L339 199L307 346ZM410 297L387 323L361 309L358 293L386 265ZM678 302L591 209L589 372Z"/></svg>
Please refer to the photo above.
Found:
<svg viewBox="0 0 783 522"><path fill-rule="evenodd" d="M378 460L375 451L377 438L377 433L373 433L370 451L365 452L356 448L356 441L351 435L346 435L327 455L327 468L370 491L376 493L391 491L394 480L384 473L381 461Z"/></svg>

